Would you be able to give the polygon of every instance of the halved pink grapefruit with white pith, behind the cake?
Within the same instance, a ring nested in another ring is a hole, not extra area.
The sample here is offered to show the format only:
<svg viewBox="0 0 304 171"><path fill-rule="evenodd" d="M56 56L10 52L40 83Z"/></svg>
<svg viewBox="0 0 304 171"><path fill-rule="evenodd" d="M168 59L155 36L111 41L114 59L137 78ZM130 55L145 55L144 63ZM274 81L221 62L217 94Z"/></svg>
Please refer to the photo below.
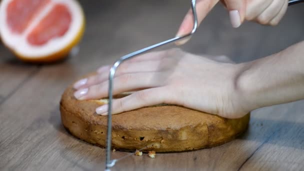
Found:
<svg viewBox="0 0 304 171"><path fill-rule="evenodd" d="M18 58L51 62L67 56L84 32L76 0L1 0L0 37Z"/></svg>

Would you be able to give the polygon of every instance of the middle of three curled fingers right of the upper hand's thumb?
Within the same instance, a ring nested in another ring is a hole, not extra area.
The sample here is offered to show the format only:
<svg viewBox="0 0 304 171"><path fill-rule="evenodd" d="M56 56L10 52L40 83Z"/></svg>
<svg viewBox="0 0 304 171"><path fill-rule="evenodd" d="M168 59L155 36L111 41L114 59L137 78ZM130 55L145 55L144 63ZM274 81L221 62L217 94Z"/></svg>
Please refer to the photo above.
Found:
<svg viewBox="0 0 304 171"><path fill-rule="evenodd" d="M273 0L272 3L257 16L256 21L261 24L268 24L270 20L279 13L285 2L286 0Z"/></svg>

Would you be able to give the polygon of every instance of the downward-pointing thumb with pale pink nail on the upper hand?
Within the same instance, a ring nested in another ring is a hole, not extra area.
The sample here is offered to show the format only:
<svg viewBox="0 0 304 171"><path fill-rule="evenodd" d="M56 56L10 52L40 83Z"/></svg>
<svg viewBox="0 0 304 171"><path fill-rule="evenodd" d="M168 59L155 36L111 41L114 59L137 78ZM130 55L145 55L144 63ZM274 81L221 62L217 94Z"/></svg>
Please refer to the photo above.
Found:
<svg viewBox="0 0 304 171"><path fill-rule="evenodd" d="M245 0L224 0L226 8L229 10L231 25L234 28L240 26L245 17Z"/></svg>

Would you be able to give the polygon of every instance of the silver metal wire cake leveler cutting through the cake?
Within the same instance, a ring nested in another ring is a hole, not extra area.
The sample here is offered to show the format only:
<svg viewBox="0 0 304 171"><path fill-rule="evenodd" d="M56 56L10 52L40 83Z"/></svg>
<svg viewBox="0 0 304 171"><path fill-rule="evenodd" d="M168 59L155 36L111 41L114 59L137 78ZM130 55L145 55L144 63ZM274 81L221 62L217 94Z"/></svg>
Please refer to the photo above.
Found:
<svg viewBox="0 0 304 171"><path fill-rule="evenodd" d="M304 0L289 0L288 1L288 5L292 5L292 4L297 4L299 2L303 2ZM146 51L149 51L151 49L154 49L156 47L159 47L159 46L162 46L162 45L165 45L167 43L171 43L171 42L174 42L176 40L179 40L179 39L182 39L182 38L185 38L185 37L188 37L190 35L192 35L196 29L197 29L197 16L196 16L196 9L195 9L195 0L191 0L191 10L192 10L192 15L193 15L193 27L192 27L192 30L191 32L183 35L183 36L175 36L173 38L170 38L168 40L165 40L165 41L162 41L162 42L159 42L159 43L156 43L156 44L153 44L153 45L150 45L148 47L145 47L145 48L142 48L140 50L137 50L137 51L134 51L134 52L131 52L129 54L126 54L122 57L120 57L110 68L110 72L109 72L109 76L108 76L108 79L109 79L109 84L108 84L108 115L107 115L107 135L106 135L106 163L105 163L105 170L108 171L110 170L110 167L114 166L115 165L115 162L117 161L117 159L110 159L111 157L111 133L112 133L112 91L113 91L113 77L115 75L115 72L116 72L116 69L118 68L118 66L125 60L127 59L130 59L138 54L141 54L141 53L144 53ZM128 155L126 155L128 156ZM126 156L123 156L121 157L120 159L126 157Z"/></svg>

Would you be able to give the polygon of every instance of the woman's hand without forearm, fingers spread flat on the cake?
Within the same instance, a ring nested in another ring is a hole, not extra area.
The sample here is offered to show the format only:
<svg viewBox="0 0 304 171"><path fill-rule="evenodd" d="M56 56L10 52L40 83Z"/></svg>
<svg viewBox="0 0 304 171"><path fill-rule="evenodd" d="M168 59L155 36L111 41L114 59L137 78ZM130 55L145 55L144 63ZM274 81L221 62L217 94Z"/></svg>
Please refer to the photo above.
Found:
<svg viewBox="0 0 304 171"><path fill-rule="evenodd" d="M118 67L113 94L135 92L114 99L112 112L167 103L227 118L241 117L252 108L235 86L240 68L225 56L211 59L180 49L140 55ZM77 81L75 97L80 100L107 97L109 69L109 66L103 66L98 74ZM106 115L107 105L98 107L96 112Z"/></svg>

